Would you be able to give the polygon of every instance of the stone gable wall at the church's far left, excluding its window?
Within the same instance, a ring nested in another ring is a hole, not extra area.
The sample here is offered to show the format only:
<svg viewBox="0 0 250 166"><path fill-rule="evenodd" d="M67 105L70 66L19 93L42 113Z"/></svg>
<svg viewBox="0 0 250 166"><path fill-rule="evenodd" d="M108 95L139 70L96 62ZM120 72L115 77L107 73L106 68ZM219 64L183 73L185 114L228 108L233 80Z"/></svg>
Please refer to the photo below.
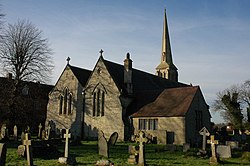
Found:
<svg viewBox="0 0 250 166"><path fill-rule="evenodd" d="M71 113L59 114L60 95L65 88L68 88L72 94ZM72 137L81 137L82 135L82 116L83 116L83 97L82 86L72 73L71 69L66 66L55 88L49 95L47 106L46 125L50 123L52 130L60 134L62 129L70 129Z"/></svg>

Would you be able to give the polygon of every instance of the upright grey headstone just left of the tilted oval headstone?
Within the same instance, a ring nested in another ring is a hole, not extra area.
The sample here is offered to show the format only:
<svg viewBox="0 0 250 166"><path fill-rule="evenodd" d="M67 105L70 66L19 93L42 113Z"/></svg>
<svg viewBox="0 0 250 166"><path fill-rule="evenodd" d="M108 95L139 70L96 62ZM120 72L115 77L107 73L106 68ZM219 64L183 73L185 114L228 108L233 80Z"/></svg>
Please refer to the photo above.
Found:
<svg viewBox="0 0 250 166"><path fill-rule="evenodd" d="M108 143L102 131L98 132L98 149L99 155L109 157Z"/></svg>

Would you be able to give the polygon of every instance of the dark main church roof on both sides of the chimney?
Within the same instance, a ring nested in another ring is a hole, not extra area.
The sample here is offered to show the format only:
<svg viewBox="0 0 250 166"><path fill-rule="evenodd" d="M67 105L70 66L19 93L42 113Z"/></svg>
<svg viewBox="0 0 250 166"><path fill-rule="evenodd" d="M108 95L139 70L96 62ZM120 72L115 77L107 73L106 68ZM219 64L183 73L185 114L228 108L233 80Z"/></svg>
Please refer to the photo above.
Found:
<svg viewBox="0 0 250 166"><path fill-rule="evenodd" d="M108 60L103 60L106 65L111 77L114 79L116 85L120 90L124 89L124 66L110 62ZM183 83L170 81L159 76L143 72L141 70L132 69L132 83L133 83L133 92L134 94L142 91L152 91L152 90L163 90L166 88L176 88L188 86Z"/></svg>

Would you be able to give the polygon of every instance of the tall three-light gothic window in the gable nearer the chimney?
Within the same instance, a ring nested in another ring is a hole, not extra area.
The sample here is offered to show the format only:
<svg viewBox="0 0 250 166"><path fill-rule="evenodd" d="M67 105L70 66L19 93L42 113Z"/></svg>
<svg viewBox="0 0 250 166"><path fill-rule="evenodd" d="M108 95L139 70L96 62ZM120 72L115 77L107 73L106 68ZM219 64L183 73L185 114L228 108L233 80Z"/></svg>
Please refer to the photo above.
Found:
<svg viewBox="0 0 250 166"><path fill-rule="evenodd" d="M93 92L93 116L104 116L105 111L105 89L96 87Z"/></svg>

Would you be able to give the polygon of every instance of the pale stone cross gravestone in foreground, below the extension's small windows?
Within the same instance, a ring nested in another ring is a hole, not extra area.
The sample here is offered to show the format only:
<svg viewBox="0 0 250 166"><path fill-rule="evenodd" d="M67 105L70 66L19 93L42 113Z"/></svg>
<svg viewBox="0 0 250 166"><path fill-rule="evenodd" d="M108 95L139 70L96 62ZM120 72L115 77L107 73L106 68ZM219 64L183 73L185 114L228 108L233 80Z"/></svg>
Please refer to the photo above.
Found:
<svg viewBox="0 0 250 166"><path fill-rule="evenodd" d="M148 141L146 137L144 137L144 132L140 131L139 132L139 137L135 138L136 142L139 142L139 160L138 160L138 165L139 166L144 166L144 148L143 144Z"/></svg>

